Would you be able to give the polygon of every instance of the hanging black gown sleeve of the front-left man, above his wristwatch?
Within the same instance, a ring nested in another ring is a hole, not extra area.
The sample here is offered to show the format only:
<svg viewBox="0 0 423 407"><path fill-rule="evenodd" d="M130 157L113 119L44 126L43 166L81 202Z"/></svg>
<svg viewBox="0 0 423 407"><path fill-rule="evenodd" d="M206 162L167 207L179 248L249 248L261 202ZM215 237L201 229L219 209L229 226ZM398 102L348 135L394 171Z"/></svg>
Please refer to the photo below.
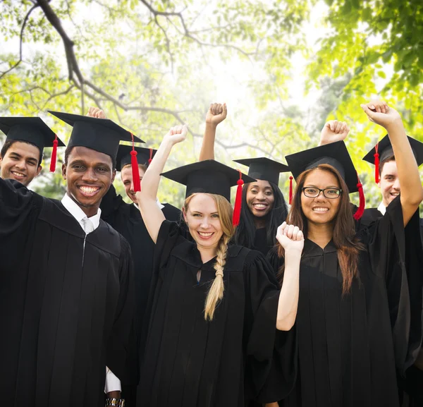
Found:
<svg viewBox="0 0 423 407"><path fill-rule="evenodd" d="M139 374L134 329L133 262L129 243L122 236L119 285L118 304L106 351L106 365L121 380L122 384L136 385ZM134 380L136 383L133 382Z"/></svg>

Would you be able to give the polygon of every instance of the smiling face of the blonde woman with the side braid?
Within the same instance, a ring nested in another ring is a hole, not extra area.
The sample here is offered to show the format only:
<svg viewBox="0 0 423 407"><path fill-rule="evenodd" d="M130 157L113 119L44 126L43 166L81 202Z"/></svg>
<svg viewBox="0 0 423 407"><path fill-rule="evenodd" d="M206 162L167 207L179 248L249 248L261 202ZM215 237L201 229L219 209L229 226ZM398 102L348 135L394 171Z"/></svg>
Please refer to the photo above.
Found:
<svg viewBox="0 0 423 407"><path fill-rule="evenodd" d="M200 248L215 248L223 235L216 201L207 194L197 193L183 212L192 238Z"/></svg>

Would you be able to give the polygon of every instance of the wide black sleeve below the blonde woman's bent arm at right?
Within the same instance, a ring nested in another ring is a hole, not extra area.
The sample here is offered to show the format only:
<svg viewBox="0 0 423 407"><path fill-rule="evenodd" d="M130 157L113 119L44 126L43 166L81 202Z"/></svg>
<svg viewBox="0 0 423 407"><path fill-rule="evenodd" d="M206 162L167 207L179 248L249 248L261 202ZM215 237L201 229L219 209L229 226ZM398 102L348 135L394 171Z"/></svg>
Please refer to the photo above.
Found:
<svg viewBox="0 0 423 407"><path fill-rule="evenodd" d="M255 258L252 258L255 257ZM284 399L295 384L297 342L295 328L288 332L276 329L280 291L269 262L261 253L247 256L246 389L259 403Z"/></svg>

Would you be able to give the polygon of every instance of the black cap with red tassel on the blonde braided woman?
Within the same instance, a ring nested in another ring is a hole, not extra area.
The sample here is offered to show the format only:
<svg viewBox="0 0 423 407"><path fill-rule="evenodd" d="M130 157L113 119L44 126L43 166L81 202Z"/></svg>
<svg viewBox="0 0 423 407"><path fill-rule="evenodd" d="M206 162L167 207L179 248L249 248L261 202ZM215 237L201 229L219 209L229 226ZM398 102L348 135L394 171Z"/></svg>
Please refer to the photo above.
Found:
<svg viewBox="0 0 423 407"><path fill-rule="evenodd" d="M161 175L185 185L187 187L185 198L193 193L212 193L221 195L231 202L231 186L238 185L233 207L234 226L240 222L243 184L256 181L241 171L214 161L214 159L180 166Z"/></svg>

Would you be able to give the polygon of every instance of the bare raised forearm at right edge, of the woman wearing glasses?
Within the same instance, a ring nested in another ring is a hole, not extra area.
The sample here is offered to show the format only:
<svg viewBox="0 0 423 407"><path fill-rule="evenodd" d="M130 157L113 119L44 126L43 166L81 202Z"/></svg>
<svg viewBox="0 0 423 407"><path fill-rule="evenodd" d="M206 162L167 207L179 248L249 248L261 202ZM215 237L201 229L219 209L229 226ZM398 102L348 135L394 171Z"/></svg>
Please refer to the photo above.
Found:
<svg viewBox="0 0 423 407"><path fill-rule="evenodd" d="M415 156L407 139L403 122L397 119L386 129L396 159L401 185L401 202L419 205L423 199L422 183Z"/></svg>

